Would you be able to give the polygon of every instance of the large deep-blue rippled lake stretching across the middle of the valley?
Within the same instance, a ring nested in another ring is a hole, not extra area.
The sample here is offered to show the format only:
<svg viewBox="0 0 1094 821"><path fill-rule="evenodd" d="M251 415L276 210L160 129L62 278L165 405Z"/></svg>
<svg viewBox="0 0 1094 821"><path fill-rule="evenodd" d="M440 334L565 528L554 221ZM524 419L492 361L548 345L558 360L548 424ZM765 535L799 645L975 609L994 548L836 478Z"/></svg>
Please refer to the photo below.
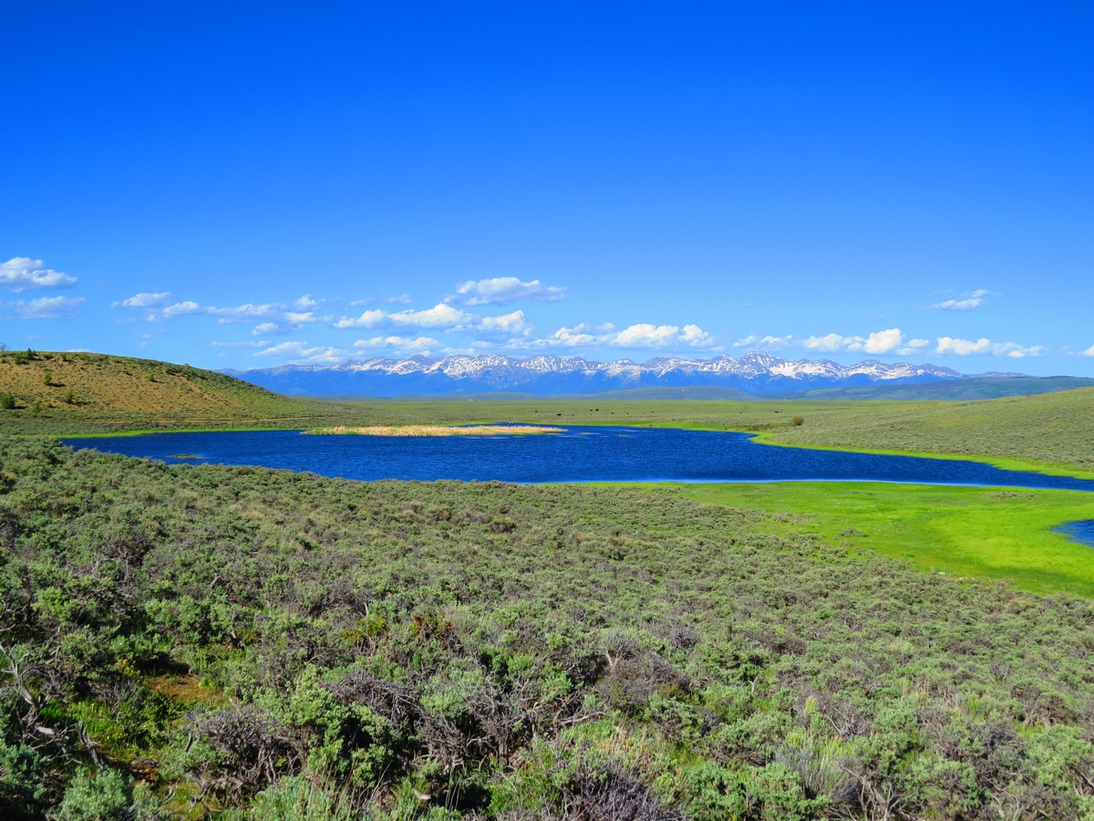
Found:
<svg viewBox="0 0 1094 821"><path fill-rule="evenodd" d="M757 444L748 433L671 428L569 427L563 433L451 437L263 430L63 441L164 462L263 465L364 481L862 481L1094 490L1090 479L1003 471L979 462L779 448Z"/></svg>

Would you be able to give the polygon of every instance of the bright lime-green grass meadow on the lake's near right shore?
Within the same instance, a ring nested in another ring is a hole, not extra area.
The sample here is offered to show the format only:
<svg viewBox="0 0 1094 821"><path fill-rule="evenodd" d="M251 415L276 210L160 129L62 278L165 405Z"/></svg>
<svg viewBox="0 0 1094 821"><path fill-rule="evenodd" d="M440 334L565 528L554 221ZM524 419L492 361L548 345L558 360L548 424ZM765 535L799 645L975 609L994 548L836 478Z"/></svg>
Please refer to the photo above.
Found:
<svg viewBox="0 0 1094 821"><path fill-rule="evenodd" d="M1051 531L1094 519L1094 494L874 482L688 485L683 493L785 514L783 532L906 559L922 570L1094 598L1094 548Z"/></svg>

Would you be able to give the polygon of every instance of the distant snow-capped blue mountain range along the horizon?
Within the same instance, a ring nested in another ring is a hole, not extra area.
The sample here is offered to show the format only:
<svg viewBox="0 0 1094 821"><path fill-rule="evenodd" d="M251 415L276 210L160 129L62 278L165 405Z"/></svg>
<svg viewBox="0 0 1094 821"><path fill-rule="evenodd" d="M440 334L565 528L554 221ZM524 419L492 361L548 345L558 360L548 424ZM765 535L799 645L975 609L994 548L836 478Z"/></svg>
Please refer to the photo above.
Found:
<svg viewBox="0 0 1094 821"><path fill-rule="evenodd" d="M828 359L780 359L759 351L740 359L659 357L641 365L629 359L595 362L582 357L502 354L443 359L365 359L339 365L283 365L229 373L278 393L342 396L429 396L516 392L540 396L596 393L628 388L713 385L758 396L810 388L911 384L965 379L934 365L887 365L873 359L842 366ZM988 374L984 374L988 375ZM991 375L1022 375L997 373Z"/></svg>

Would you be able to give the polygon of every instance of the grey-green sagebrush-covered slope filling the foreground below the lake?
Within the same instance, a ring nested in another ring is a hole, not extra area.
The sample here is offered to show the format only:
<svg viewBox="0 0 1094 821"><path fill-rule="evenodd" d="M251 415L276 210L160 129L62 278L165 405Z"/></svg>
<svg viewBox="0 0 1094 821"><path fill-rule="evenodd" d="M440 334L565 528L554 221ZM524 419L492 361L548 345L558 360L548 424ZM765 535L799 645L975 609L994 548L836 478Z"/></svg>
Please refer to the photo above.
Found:
<svg viewBox="0 0 1094 821"><path fill-rule="evenodd" d="M884 511L0 465L3 818L1094 812L1091 603L877 556Z"/></svg>

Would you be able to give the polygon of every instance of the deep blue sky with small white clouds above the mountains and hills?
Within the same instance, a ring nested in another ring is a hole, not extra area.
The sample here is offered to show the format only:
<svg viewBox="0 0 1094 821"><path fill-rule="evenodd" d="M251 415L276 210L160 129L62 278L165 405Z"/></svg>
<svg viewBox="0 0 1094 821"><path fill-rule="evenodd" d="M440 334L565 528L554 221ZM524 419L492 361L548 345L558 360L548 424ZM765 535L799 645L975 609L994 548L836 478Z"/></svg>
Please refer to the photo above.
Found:
<svg viewBox="0 0 1094 821"><path fill-rule="evenodd" d="M1094 375L1090 4L13 0L0 30L11 348Z"/></svg>

